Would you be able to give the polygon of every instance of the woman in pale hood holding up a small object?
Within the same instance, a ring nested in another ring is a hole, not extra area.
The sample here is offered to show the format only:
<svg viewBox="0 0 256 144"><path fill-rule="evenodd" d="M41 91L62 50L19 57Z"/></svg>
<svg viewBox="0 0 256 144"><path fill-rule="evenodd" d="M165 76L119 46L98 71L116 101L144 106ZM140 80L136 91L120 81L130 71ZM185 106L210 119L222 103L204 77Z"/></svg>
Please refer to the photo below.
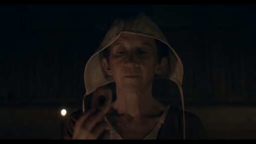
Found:
<svg viewBox="0 0 256 144"><path fill-rule="evenodd" d="M150 18L117 19L86 64L82 110L71 114L65 138L205 138L199 117L184 111L182 78L180 58ZM178 85L183 109L152 96L154 79ZM101 95L109 100L100 109Z"/></svg>

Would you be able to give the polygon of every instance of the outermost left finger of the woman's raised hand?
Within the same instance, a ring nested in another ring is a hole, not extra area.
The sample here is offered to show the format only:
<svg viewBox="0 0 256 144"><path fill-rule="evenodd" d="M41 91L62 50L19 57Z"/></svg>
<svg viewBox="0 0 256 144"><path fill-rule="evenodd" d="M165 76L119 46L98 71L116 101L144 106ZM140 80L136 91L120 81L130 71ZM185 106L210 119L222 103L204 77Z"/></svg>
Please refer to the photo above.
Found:
<svg viewBox="0 0 256 144"><path fill-rule="evenodd" d="M76 121L75 123L75 127L74 127L74 134L73 134L73 138L77 138L79 131L82 127L82 124L84 123L84 121L93 113L95 112L95 109L90 109L89 111L83 113L80 118Z"/></svg>

